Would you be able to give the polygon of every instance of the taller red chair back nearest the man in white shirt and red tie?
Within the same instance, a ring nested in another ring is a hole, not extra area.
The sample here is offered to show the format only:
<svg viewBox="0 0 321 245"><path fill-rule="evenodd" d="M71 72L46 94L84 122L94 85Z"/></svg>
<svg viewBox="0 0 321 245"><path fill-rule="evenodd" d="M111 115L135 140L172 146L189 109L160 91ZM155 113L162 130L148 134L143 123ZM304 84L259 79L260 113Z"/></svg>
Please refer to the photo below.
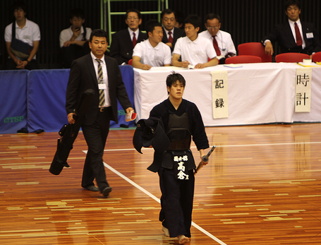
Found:
<svg viewBox="0 0 321 245"><path fill-rule="evenodd" d="M265 53L265 47L260 42L246 42L238 45L238 55L259 56L262 62L272 62L272 55Z"/></svg>

